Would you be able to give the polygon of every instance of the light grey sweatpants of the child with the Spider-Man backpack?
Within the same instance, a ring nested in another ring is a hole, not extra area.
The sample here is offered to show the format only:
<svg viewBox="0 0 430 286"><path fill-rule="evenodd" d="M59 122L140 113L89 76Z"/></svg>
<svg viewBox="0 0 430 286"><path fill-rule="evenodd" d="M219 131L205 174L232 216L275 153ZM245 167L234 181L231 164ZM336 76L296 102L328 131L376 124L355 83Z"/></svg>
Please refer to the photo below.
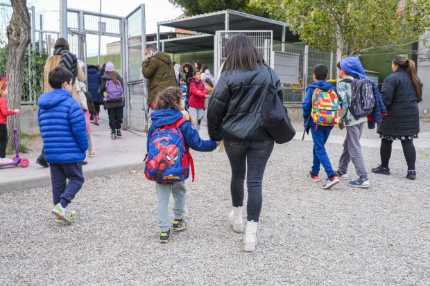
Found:
<svg viewBox="0 0 430 286"><path fill-rule="evenodd" d="M185 183L182 181L175 184L157 184L158 197L158 224L160 231L169 231L171 221L169 218L169 199L170 193L173 195L173 215L175 219L181 219L185 214L185 202L187 194L185 193Z"/></svg>

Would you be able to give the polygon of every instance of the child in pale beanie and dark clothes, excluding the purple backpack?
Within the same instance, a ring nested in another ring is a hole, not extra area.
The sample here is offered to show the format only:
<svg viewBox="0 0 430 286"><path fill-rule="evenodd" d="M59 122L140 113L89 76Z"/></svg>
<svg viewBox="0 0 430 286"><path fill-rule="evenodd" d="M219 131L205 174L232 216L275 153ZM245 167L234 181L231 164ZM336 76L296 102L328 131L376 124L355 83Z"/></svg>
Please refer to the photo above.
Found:
<svg viewBox="0 0 430 286"><path fill-rule="evenodd" d="M121 126L123 124L123 108L126 105L126 100L122 96L121 100L107 100L106 85L107 82L112 80L114 85L119 87L118 82L121 83L121 87L124 87L123 78L121 75L114 70L114 64L112 62L107 62L105 66L105 75L101 78L100 93L103 94L103 107L107 109L107 115L109 116L109 126L111 129L111 138L121 137Z"/></svg>

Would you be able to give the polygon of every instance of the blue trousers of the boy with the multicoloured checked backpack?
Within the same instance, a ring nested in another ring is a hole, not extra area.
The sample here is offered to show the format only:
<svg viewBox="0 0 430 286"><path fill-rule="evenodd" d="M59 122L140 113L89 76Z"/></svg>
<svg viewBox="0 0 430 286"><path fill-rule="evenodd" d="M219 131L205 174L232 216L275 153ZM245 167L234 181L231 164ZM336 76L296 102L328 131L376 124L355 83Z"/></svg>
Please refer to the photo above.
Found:
<svg viewBox="0 0 430 286"><path fill-rule="evenodd" d="M320 166L324 168L327 173L327 177L331 178L336 175L336 172L332 168L329 156L325 151L325 143L329 138L330 132L333 126L320 126L315 130L315 127L311 127L312 140L313 140L313 165L311 174L316 175L320 172Z"/></svg>

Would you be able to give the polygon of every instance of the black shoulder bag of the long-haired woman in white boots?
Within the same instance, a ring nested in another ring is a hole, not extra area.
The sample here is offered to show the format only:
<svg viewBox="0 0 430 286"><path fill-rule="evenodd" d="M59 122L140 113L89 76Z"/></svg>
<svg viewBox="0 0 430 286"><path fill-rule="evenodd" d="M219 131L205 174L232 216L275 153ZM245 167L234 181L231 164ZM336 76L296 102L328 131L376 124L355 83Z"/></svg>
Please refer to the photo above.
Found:
<svg viewBox="0 0 430 286"><path fill-rule="evenodd" d="M263 118L262 126L266 129L273 140L278 143L286 143L291 141L295 135L295 129L291 125L291 120L288 116L288 111L284 106L281 98L277 95L277 89L273 84L272 71L270 73L270 83L264 98L261 116Z"/></svg>

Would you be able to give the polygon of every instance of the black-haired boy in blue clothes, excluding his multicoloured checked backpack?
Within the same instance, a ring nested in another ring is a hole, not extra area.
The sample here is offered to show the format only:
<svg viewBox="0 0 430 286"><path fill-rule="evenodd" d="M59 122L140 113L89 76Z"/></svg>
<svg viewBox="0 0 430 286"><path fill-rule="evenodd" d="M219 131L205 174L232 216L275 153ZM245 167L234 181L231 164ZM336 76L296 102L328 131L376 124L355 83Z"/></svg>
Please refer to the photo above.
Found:
<svg viewBox="0 0 430 286"><path fill-rule="evenodd" d="M312 170L309 173L309 177L311 177L312 181L320 181L320 177L318 173L320 172L320 165L324 167L325 172L327 173L327 181L325 182L323 189L332 188L332 186L338 184L339 179L336 175L336 171L332 168L332 163L330 163L330 159L325 151L325 143L329 138L330 132L333 129L333 126L321 126L318 125L316 128L316 123L313 122L311 118L311 109L312 109L312 95L315 89L321 89L322 91L329 91L333 89L336 91L334 87L328 82L325 82L327 78L328 69L327 66L318 64L313 68L313 84L309 85L307 88L306 96L303 100L303 118L304 118L304 128L306 128L307 132L311 129L312 140L313 140L313 165Z"/></svg>

